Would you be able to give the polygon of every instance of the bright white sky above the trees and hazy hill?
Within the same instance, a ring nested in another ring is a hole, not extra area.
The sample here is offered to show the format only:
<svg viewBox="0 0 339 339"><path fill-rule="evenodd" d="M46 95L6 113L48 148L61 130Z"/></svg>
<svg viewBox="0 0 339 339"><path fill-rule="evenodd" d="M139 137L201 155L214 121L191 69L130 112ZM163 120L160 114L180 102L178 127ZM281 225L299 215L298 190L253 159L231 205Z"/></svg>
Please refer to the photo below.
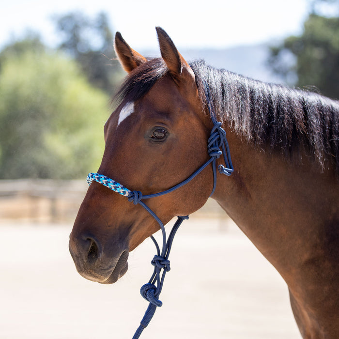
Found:
<svg viewBox="0 0 339 339"><path fill-rule="evenodd" d="M157 48L155 26L177 47L227 48L256 45L300 34L308 0L10 0L0 6L0 48L27 29L56 46L53 15L105 11L113 31L134 49Z"/></svg>

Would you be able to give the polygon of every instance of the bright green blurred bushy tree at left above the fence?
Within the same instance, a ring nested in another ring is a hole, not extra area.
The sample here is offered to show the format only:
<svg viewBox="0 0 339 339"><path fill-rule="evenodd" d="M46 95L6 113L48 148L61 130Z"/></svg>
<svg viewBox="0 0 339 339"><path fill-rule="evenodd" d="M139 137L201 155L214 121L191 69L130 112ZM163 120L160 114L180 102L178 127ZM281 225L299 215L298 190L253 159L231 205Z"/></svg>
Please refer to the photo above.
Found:
<svg viewBox="0 0 339 339"><path fill-rule="evenodd" d="M1 56L0 178L78 178L97 169L108 96L60 54Z"/></svg>

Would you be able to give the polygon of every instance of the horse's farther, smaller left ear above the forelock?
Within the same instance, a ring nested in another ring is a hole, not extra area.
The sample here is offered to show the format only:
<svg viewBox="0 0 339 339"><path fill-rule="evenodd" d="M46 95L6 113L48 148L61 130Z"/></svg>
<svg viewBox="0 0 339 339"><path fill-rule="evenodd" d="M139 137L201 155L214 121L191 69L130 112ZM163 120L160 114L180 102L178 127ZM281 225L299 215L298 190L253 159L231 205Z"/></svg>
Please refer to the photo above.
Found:
<svg viewBox="0 0 339 339"><path fill-rule="evenodd" d="M131 72L147 59L132 49L123 39L120 32L116 32L114 49L118 59L126 72Z"/></svg>

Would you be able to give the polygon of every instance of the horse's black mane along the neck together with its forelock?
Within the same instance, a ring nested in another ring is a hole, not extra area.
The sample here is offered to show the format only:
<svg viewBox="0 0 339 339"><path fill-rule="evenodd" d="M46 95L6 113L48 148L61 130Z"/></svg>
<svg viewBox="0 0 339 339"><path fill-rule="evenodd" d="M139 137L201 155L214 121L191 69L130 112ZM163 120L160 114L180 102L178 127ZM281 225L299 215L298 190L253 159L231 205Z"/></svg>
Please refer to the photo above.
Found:
<svg viewBox="0 0 339 339"><path fill-rule="evenodd" d="M216 115L254 144L292 152L303 146L324 167L327 158L339 172L339 101L314 92L253 80L204 61L190 63L205 105L207 82ZM161 58L140 65L126 77L117 97L134 101L168 73Z"/></svg>

